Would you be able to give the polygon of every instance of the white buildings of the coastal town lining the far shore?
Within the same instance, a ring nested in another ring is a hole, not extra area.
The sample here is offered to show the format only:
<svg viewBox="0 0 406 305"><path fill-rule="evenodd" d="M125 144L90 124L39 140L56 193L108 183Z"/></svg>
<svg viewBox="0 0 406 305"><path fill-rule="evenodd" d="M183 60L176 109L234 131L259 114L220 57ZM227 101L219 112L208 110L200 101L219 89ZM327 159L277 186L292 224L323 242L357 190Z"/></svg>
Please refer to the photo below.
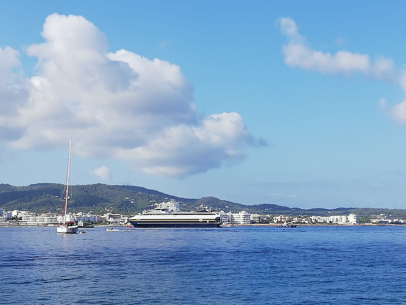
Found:
<svg viewBox="0 0 406 305"><path fill-rule="evenodd" d="M181 202L175 202L169 200L168 202L160 203L159 205L174 205L181 204ZM199 206L199 209L211 210L209 207ZM228 212L216 211L220 214L221 223L223 225L249 225L249 224L335 224L335 225L356 225L359 224L358 216L356 214L348 215L332 215L332 216L309 216L309 215L274 215L274 214L250 214L248 211L240 212ZM66 215L68 221L75 222L79 225L84 224L101 224L107 226L126 226L129 225L128 219L132 215L125 215L120 213L111 213L105 211L104 213L92 213L92 212L77 212ZM54 226L63 221L63 215L58 213L42 213L37 214L27 210L13 210L7 211L0 209L0 226ZM392 219L390 215L375 215L374 218L370 218L369 221L363 222L363 224L405 224L405 220Z"/></svg>

